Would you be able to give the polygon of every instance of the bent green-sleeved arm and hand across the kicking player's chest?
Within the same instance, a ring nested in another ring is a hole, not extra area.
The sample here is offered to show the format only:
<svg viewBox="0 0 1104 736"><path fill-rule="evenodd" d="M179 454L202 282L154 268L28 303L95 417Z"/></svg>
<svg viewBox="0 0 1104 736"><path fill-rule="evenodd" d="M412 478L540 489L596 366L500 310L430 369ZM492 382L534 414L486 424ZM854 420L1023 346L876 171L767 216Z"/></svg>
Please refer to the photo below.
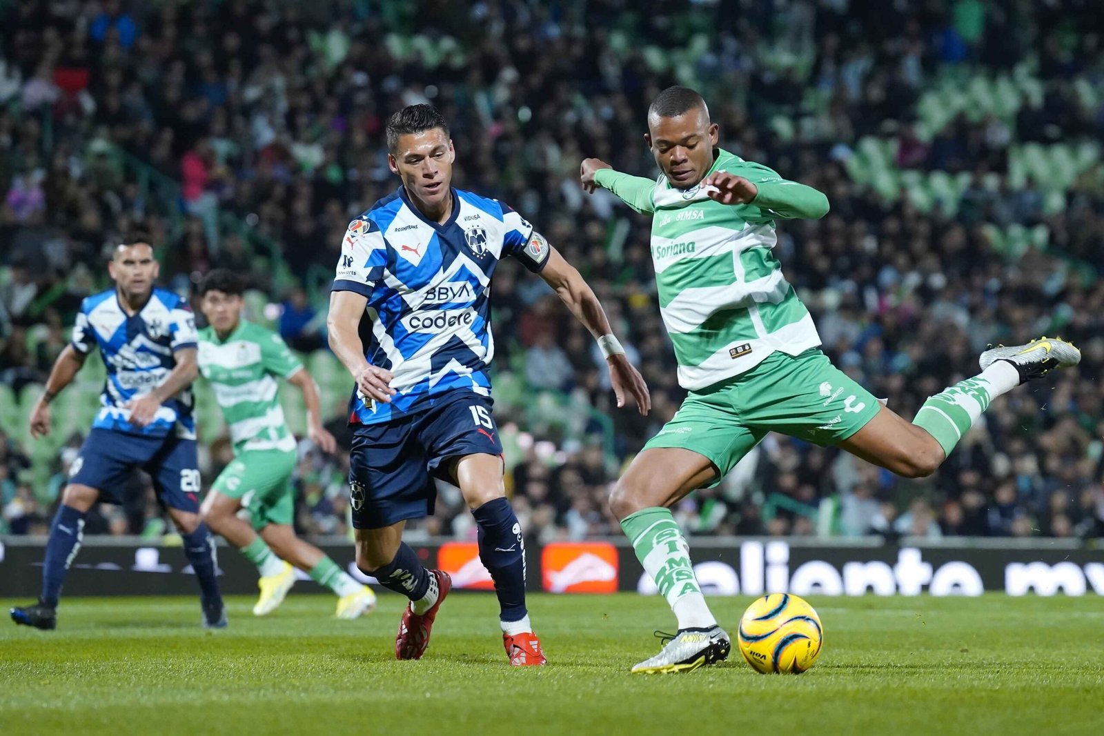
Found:
<svg viewBox="0 0 1104 736"><path fill-rule="evenodd" d="M822 192L783 179L757 163L740 164L736 171L715 171L701 185L710 199L721 204L758 207L762 216L750 221L819 220L828 214L828 198Z"/></svg>

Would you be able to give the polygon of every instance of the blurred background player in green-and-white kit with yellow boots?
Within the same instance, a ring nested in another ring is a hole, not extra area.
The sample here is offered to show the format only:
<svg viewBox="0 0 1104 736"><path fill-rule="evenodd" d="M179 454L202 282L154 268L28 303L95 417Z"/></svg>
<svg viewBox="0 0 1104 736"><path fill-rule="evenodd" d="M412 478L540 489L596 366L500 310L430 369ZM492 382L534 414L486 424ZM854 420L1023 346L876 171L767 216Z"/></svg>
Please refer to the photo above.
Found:
<svg viewBox="0 0 1104 736"><path fill-rule="evenodd" d="M286 378L302 392L309 437L331 454L337 442L322 428L314 380L278 334L242 319L243 285L233 273L212 270L199 291L200 310L210 324L200 330L200 373L214 388L234 442L234 460L215 479L201 513L257 566L261 598L253 612L265 616L284 601L295 585L295 567L338 595L338 618L372 610L375 594L298 538L291 526L296 441L279 405L278 381ZM237 518L243 508L252 525Z"/></svg>

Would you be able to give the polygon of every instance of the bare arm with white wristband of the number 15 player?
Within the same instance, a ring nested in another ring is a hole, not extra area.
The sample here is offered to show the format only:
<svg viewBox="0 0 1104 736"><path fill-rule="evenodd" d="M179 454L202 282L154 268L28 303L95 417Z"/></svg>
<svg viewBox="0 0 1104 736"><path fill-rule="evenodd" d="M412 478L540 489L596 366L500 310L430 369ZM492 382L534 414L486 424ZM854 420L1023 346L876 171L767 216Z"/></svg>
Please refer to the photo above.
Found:
<svg viewBox="0 0 1104 736"><path fill-rule="evenodd" d="M541 271L541 278L555 289L556 296L566 305L575 319L585 324L598 341L609 366L609 383L617 397L617 406L625 406L625 393L628 392L636 401L640 414L647 414L651 408L648 386L640 373L625 358L625 350L614 337L606 312L591 286L555 248L549 254L548 265Z"/></svg>

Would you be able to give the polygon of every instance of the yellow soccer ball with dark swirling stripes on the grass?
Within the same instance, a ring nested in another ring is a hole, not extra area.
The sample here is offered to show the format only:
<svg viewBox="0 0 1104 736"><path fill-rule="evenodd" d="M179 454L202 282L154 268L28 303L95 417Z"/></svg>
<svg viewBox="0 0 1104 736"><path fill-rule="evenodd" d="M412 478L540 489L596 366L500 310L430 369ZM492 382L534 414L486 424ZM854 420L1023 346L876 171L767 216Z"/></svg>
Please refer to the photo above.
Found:
<svg viewBox="0 0 1104 736"><path fill-rule="evenodd" d="M805 672L817 661L824 630L805 600L785 593L755 599L740 619L740 653L756 672Z"/></svg>

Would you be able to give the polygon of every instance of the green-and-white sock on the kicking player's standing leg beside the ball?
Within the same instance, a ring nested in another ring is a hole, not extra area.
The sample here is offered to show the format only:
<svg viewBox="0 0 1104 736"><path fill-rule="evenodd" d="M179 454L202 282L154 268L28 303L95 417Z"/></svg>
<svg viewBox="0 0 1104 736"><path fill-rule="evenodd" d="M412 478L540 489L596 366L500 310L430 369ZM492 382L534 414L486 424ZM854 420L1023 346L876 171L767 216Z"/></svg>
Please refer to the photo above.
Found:
<svg viewBox="0 0 1104 736"><path fill-rule="evenodd" d="M622 530L675 611L679 629L716 626L690 563L690 545L670 510L655 506L637 511L622 520Z"/></svg>

